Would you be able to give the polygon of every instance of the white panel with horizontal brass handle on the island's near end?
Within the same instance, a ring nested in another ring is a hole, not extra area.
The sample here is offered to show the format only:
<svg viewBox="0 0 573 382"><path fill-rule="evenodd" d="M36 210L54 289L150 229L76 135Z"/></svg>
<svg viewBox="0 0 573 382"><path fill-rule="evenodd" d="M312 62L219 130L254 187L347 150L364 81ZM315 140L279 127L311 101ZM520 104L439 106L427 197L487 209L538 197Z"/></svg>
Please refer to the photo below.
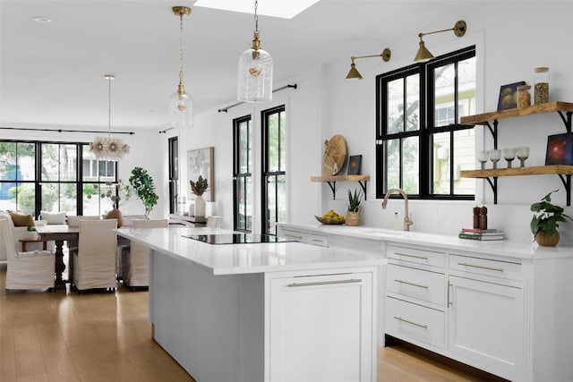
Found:
<svg viewBox="0 0 573 382"><path fill-rule="evenodd" d="M372 273L273 278L269 381L375 379Z"/></svg>

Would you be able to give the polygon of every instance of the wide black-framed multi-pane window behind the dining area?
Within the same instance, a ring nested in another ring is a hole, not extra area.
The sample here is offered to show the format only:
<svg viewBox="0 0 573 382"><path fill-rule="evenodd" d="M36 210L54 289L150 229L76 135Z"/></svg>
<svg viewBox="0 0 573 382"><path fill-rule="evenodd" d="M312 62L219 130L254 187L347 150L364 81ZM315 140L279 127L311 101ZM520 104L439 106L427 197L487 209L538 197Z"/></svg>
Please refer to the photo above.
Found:
<svg viewBox="0 0 573 382"><path fill-rule="evenodd" d="M98 161L85 143L0 140L0 209L100 215L113 208L100 194L116 174L115 162Z"/></svg>

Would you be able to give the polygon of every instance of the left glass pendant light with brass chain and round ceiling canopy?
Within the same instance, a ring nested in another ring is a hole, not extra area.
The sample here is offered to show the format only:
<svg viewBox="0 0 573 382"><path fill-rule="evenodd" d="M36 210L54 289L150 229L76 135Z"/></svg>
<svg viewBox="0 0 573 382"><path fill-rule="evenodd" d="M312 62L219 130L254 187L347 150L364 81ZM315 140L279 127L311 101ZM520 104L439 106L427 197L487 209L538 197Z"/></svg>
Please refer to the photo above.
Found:
<svg viewBox="0 0 573 382"><path fill-rule="evenodd" d="M191 13L191 8L187 6L174 6L172 8L175 16L179 16L179 84L177 91L169 99L169 115L175 128L191 128L193 124L193 103L192 98L185 92L183 83L183 16Z"/></svg>

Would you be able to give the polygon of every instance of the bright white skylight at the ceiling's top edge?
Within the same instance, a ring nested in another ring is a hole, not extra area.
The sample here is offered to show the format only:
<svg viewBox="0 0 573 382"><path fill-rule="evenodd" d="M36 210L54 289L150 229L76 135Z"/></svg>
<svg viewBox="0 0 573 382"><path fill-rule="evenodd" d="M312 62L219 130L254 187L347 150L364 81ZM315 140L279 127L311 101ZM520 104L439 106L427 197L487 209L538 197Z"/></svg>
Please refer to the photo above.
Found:
<svg viewBox="0 0 573 382"><path fill-rule="evenodd" d="M257 13L265 16L292 19L319 0L261 0ZM254 0L197 0L196 6L231 12L254 13Z"/></svg>

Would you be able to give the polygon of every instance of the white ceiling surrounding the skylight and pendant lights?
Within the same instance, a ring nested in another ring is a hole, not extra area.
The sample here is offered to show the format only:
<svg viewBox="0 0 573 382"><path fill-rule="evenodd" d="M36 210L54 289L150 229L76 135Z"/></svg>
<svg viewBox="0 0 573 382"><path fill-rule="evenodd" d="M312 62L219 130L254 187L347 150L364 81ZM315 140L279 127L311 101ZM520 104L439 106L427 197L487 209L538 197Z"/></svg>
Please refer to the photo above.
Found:
<svg viewBox="0 0 573 382"><path fill-rule="evenodd" d="M193 3L0 0L1 126L107 130L104 75L112 73L114 131L168 128L167 99L179 74L174 5L192 7L184 17L184 84L195 114L235 103L237 61L251 45L252 14ZM372 46L391 47L396 38L411 35L415 45L421 26L447 28L432 17L441 20L462 3L321 0L291 20L260 16L261 47L272 55L275 85L282 86L312 65L379 54Z"/></svg>

